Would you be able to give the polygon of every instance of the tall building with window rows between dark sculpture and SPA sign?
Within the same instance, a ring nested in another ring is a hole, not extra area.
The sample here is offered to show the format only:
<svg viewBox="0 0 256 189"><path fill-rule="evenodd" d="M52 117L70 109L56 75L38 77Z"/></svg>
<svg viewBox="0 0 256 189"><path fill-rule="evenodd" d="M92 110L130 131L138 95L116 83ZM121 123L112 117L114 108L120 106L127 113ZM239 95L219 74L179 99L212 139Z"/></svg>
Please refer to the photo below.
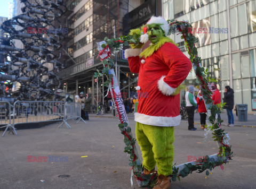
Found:
<svg viewBox="0 0 256 189"><path fill-rule="evenodd" d="M65 49L63 61L67 67L58 73L62 78L63 89L66 93L90 92L95 99L93 104L103 101L108 91L102 85L104 79L95 80L93 78L94 72L103 68L100 58L97 59L99 52L96 42L102 41L105 37L123 35L125 33L124 25L129 22L129 18L125 19L129 9L134 9L136 8L134 6L139 6L143 2L142 0L67 1L67 7L71 11L67 24L72 30L68 33L70 40L63 44ZM113 58L117 62L116 74L121 89L124 88L128 95L130 89L135 87L133 80L136 76L130 73L127 60L123 59L122 54ZM126 80L127 78L130 79ZM130 82L133 84L130 85Z"/></svg>

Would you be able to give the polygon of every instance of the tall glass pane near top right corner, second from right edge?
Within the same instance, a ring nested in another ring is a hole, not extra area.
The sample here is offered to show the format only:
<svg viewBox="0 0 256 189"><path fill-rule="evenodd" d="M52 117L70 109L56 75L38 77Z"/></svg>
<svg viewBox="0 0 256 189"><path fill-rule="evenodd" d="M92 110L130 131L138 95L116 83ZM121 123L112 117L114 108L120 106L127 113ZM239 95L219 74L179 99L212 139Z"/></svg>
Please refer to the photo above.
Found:
<svg viewBox="0 0 256 189"><path fill-rule="evenodd" d="M246 4L238 6L239 35L248 33Z"/></svg>

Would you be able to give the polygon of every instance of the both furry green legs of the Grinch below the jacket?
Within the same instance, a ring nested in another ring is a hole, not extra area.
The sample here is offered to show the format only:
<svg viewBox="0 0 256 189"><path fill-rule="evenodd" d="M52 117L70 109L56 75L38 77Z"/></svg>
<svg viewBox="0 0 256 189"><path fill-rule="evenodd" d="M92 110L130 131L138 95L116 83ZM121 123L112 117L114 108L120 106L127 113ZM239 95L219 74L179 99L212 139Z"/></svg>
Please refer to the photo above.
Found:
<svg viewBox="0 0 256 189"><path fill-rule="evenodd" d="M136 123L136 138L142 152L142 165L152 170L157 164L158 174L171 175L174 158L174 127Z"/></svg>

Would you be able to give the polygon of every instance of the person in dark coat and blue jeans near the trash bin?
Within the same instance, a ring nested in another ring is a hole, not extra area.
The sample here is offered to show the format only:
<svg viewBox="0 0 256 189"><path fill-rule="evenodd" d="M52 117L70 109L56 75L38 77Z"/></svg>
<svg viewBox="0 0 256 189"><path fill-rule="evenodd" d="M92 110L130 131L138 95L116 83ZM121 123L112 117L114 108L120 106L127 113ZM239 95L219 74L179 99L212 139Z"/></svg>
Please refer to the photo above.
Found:
<svg viewBox="0 0 256 189"><path fill-rule="evenodd" d="M226 126L234 126L234 115L232 109L234 108L234 90L231 89L228 85L225 87L223 103L226 103L223 107L227 110L228 115L228 124Z"/></svg>

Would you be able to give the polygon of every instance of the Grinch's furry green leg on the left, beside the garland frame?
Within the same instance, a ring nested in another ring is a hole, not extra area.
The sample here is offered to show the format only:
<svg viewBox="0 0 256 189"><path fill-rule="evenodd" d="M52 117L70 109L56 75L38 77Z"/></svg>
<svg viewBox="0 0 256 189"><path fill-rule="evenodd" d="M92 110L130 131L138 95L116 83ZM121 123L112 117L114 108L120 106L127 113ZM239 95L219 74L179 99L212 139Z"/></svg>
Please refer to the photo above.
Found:
<svg viewBox="0 0 256 189"><path fill-rule="evenodd" d="M152 145L150 144L147 136L143 133L142 124L136 122L135 129L136 139L140 146L140 150L142 152L143 162L142 165L147 170L153 170L156 166L156 161L154 159L154 153L152 151Z"/></svg>

